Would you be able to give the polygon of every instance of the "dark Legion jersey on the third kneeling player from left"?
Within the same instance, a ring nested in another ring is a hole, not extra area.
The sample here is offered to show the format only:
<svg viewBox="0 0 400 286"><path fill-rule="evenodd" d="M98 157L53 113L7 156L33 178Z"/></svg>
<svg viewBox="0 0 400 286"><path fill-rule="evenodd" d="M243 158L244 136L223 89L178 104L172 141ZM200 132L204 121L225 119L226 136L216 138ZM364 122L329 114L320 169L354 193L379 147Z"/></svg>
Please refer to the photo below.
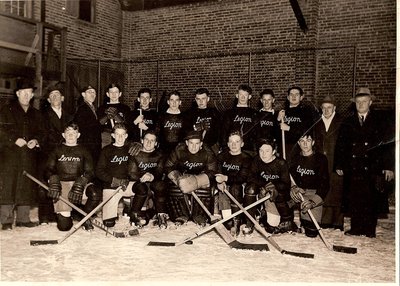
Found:
<svg viewBox="0 0 400 286"><path fill-rule="evenodd" d="M138 181L146 173L160 180L164 172L163 155L159 150L151 153L140 151L138 155L129 158L128 166L129 178L133 181Z"/></svg>

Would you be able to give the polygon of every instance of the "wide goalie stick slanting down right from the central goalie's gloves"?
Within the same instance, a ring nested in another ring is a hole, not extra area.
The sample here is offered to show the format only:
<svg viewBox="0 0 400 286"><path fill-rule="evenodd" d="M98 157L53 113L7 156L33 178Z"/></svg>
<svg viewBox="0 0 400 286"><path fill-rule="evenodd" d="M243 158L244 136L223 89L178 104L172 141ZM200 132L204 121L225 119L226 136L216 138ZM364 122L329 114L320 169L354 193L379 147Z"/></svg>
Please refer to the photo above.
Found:
<svg viewBox="0 0 400 286"><path fill-rule="evenodd" d="M207 209L207 207L204 205L204 203L200 200L200 198L197 196L195 192L191 193L193 198L196 200L196 202L201 206L201 208L204 210L204 212L210 217L211 223L214 223L218 221L218 218L210 213L210 211ZM222 237L222 239L231 247L231 248L238 248L238 242L232 234L226 229L226 227L223 224L219 224L214 228L218 234ZM249 248L242 248L248 246ZM240 245L240 249L252 249L252 250L265 250L268 251L268 244L250 244L250 245Z"/></svg>

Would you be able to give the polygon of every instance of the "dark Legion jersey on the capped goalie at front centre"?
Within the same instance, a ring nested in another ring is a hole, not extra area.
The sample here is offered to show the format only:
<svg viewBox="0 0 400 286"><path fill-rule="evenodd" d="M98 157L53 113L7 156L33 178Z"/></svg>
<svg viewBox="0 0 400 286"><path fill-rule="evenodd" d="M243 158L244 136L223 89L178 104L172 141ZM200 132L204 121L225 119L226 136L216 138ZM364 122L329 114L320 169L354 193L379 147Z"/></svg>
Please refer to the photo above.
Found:
<svg viewBox="0 0 400 286"><path fill-rule="evenodd" d="M202 148L196 154L192 154L182 143L173 150L165 163L166 174L173 170L178 170L182 174L205 173L211 181L217 171L217 160L208 148Z"/></svg>

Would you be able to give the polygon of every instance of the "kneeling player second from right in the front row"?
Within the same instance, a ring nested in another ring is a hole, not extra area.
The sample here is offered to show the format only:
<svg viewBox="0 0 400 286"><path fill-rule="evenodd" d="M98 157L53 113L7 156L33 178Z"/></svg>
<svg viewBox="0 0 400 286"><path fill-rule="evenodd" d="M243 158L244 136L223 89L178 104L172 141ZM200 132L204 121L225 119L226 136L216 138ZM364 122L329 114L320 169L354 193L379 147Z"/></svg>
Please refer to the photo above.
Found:
<svg viewBox="0 0 400 286"><path fill-rule="evenodd" d="M250 167L249 183L245 190L245 205L256 200L256 195L271 198L264 204L265 209L260 222L269 233L296 231L293 210L287 202L290 200L290 175L286 161L276 156L277 146L273 139L261 139L258 144L258 156ZM255 215L255 210L250 210ZM253 225L247 222L250 232Z"/></svg>

